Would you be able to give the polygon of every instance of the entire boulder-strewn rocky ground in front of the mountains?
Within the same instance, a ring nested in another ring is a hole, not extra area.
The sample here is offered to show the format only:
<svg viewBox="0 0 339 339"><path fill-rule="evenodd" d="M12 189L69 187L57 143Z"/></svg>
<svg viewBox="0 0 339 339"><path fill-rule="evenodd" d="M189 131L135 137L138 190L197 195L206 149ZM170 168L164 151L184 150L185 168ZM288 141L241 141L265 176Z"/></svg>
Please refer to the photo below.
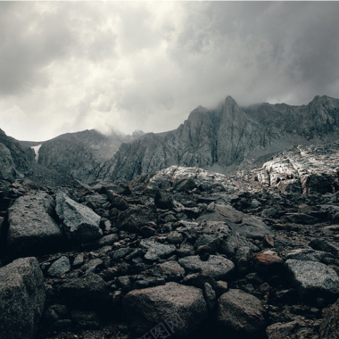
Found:
<svg viewBox="0 0 339 339"><path fill-rule="evenodd" d="M339 338L338 144L223 176L0 193L0 338Z"/></svg>

